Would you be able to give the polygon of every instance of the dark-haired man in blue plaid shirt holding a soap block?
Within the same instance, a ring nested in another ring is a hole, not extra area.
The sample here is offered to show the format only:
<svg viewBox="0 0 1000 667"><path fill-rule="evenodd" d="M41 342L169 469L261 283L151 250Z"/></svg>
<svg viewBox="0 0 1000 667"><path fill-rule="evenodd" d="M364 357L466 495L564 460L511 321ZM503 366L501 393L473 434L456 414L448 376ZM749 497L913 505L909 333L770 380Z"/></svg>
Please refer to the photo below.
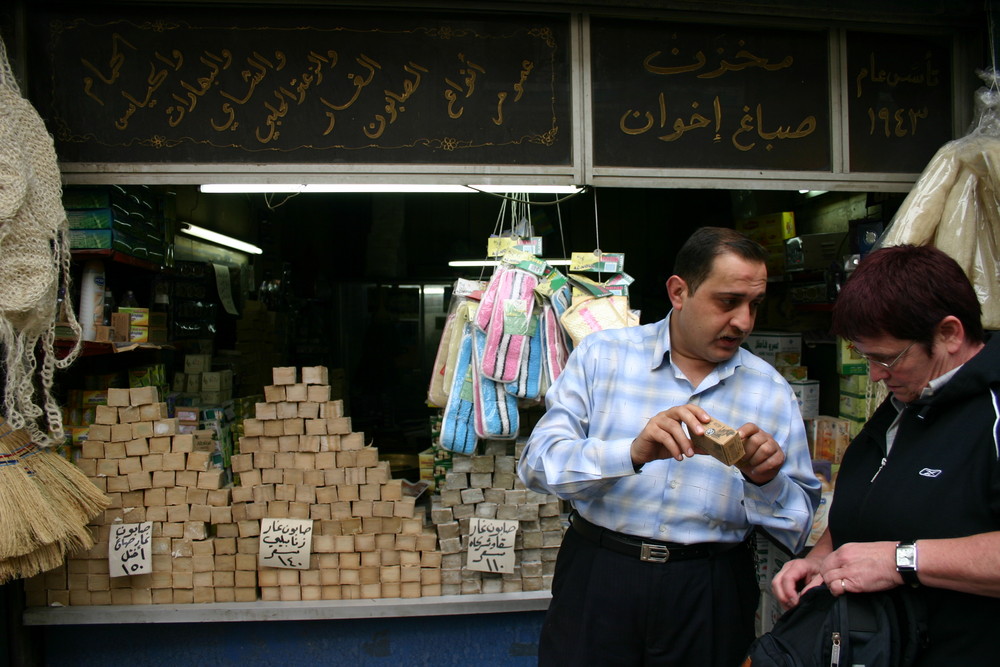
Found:
<svg viewBox="0 0 1000 667"><path fill-rule="evenodd" d="M791 553L819 501L795 396L741 347L767 285L763 247L703 227L678 252L660 322L590 334L546 394L518 464L572 505L542 665L736 665L754 638L754 527ZM696 449L716 419L733 466Z"/></svg>

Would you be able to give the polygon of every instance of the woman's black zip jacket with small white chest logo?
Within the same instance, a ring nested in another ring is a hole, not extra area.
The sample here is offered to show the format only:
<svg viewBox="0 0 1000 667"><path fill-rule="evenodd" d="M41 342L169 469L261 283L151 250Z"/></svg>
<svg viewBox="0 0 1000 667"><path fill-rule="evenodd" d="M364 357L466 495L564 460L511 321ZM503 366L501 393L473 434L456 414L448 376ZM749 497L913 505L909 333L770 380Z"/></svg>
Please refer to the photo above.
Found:
<svg viewBox="0 0 1000 667"><path fill-rule="evenodd" d="M830 508L834 547L1000 530L1000 335L933 396L907 404L886 455L895 416L887 399L844 454ZM919 590L930 634L919 665L998 664L1000 598Z"/></svg>

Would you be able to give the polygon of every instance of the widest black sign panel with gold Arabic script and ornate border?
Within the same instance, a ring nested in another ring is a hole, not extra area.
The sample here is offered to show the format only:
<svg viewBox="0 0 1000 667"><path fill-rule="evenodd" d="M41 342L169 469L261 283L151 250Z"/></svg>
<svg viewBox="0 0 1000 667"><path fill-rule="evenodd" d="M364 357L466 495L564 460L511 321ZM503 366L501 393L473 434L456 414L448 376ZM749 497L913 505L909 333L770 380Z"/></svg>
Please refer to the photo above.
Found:
<svg viewBox="0 0 1000 667"><path fill-rule="evenodd" d="M570 159L565 18L80 11L35 29L63 161Z"/></svg>

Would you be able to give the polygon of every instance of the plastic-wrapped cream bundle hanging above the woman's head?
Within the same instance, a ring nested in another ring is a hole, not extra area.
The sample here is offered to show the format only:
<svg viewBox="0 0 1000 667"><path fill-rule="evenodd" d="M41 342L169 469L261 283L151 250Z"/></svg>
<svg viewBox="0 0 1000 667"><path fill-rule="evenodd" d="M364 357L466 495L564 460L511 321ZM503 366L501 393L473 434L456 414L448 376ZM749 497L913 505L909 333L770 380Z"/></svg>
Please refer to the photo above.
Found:
<svg viewBox="0 0 1000 667"><path fill-rule="evenodd" d="M976 122L942 146L903 200L880 246L932 244L965 270L983 307L983 326L1000 329L1000 91L976 92Z"/></svg>

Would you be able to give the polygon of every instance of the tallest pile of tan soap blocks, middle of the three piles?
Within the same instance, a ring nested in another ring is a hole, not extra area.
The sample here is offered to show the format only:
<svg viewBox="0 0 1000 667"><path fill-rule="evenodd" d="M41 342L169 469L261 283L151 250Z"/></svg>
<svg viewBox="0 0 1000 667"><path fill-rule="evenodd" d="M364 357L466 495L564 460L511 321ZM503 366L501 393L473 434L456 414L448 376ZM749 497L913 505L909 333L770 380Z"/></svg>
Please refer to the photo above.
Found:
<svg viewBox="0 0 1000 667"><path fill-rule="evenodd" d="M343 401L330 400L326 369L302 368L301 379L294 367L272 373L233 455L233 516L241 537L260 519L311 519L312 556L304 570L259 566L261 599L440 595L433 530L389 463L351 431Z"/></svg>

